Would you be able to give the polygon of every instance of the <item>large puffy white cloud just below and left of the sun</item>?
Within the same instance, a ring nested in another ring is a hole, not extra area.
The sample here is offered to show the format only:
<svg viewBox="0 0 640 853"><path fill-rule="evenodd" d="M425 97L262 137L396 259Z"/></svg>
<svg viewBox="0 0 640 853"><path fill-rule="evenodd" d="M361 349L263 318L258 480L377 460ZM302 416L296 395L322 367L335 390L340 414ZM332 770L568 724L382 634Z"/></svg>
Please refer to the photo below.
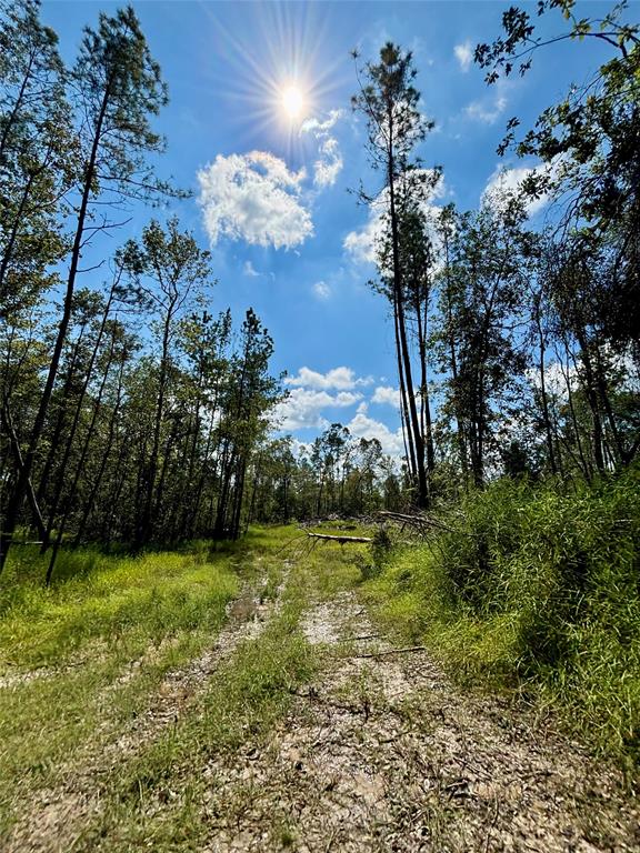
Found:
<svg viewBox="0 0 640 853"><path fill-rule="evenodd" d="M313 234L300 200L306 172L289 171L264 151L218 154L198 172L199 203L212 244L221 237L257 245L291 249Z"/></svg>

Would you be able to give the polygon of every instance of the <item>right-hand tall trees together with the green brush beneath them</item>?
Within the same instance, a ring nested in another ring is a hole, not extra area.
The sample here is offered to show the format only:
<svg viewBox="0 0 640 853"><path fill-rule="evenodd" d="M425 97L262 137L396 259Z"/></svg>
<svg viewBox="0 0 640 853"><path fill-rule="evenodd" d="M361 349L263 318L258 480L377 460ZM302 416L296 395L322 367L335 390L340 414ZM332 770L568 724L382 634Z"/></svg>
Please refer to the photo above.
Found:
<svg viewBox="0 0 640 853"><path fill-rule="evenodd" d="M411 56L360 71L384 190L377 289L388 299L408 498L422 542L382 530L364 588L408 643L457 676L560 712L637 769L640 726L640 42L619 6L543 41L527 11L476 49L489 83L573 39L610 58L500 151L534 155L478 210L433 204L438 170ZM560 17L559 17L560 18ZM523 179L520 185L518 178ZM532 214L538 212L538 217ZM419 513L418 513L419 514Z"/></svg>

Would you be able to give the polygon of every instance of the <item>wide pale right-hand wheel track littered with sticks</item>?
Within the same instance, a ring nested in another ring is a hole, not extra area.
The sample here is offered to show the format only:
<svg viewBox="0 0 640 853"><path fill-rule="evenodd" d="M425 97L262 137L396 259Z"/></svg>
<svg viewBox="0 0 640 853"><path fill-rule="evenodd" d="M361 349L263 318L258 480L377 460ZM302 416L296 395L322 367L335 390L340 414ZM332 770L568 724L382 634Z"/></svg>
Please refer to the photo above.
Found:
<svg viewBox="0 0 640 853"><path fill-rule="evenodd" d="M304 633L328 646L323 675L266 747L207 769L206 850L640 850L614 772L507 703L461 695L423 651L388 653L352 594Z"/></svg>

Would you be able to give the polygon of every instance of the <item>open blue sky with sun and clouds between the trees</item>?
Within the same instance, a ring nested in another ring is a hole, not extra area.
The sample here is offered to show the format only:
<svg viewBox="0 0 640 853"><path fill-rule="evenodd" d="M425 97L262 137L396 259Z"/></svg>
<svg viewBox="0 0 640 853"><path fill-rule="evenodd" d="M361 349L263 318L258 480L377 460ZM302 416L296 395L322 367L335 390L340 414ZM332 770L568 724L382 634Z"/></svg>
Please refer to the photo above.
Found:
<svg viewBox="0 0 640 853"><path fill-rule="evenodd" d="M159 172L192 191L174 202L183 228L211 249L211 310L249 305L269 329L272 368L287 371L284 432L308 442L339 421L400 455L393 329L373 292L374 215L360 184L381 188L351 110L358 79L351 51L377 61L386 41L413 53L421 110L436 122L418 153L443 179L432 200L477 208L501 170L513 182L534 161L499 158L507 121L521 127L603 61L598 44L566 42L540 52L532 70L488 87L472 61L478 42L500 34L510 2L133 2L169 87L156 122L168 150ZM522 3L534 16L536 3ZM84 24L117 3L44 0L42 18L72 62ZM609 4L578 3L578 17ZM536 19L562 32L558 12ZM291 112L296 113L291 116ZM149 211L148 218L153 215ZM542 212L532 211L534 215ZM156 213L157 215L157 213ZM133 234L146 224L137 217Z"/></svg>

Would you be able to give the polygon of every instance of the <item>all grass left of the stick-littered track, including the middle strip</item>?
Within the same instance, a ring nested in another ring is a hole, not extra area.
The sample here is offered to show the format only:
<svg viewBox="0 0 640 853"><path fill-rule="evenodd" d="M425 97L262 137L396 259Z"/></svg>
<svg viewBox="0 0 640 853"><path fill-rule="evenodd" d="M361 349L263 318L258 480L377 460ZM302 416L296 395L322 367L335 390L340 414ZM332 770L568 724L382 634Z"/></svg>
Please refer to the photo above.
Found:
<svg viewBox="0 0 640 853"><path fill-rule="evenodd" d="M302 613L359 576L351 550L322 544L307 553L298 536L292 528L258 529L234 545L191 543L139 558L63 553L50 590L43 561L21 549L0 591L0 678L9 685L0 705L0 846L26 803L76 777L99 794L100 807L90 820L80 815L74 850L197 846L210 830L206 794L216 793L208 766L263 740L282 719L321 656L301 633ZM286 574L263 632L221 661L173 724L100 766L167 672L213 644L241 584L273 599Z"/></svg>

